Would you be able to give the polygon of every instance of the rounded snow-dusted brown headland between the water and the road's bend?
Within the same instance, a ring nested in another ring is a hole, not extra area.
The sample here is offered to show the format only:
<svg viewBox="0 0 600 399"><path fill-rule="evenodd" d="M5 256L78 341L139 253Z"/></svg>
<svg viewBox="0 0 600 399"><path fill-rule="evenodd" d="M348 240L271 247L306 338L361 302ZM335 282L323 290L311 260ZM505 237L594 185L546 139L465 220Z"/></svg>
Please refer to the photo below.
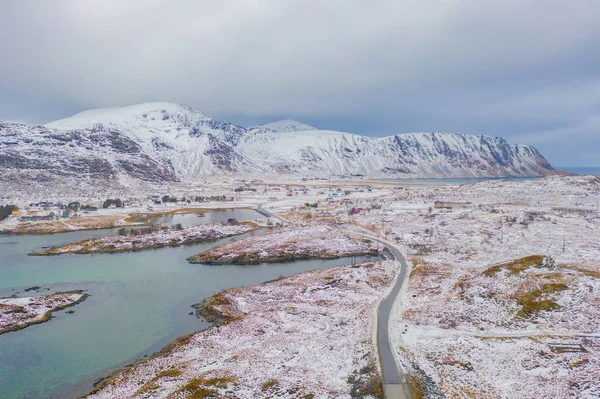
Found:
<svg viewBox="0 0 600 399"><path fill-rule="evenodd" d="M229 242L188 258L210 265L258 264L377 255L377 245L333 224L293 225Z"/></svg>

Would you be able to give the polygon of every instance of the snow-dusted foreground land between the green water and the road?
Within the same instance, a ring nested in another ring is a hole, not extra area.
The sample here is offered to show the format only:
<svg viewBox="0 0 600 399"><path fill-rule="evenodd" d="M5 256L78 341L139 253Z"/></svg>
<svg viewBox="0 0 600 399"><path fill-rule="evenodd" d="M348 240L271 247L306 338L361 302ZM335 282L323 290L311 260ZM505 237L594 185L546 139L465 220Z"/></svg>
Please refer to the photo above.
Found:
<svg viewBox="0 0 600 399"><path fill-rule="evenodd" d="M226 322L116 374L90 398L382 397L375 309L397 266L317 270L217 294L206 306Z"/></svg>

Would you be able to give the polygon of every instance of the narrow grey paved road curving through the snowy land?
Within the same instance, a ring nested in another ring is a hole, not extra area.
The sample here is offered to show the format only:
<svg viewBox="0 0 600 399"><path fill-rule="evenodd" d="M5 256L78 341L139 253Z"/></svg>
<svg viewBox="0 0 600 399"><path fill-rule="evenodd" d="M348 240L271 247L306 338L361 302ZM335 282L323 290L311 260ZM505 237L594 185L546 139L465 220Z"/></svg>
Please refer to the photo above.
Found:
<svg viewBox="0 0 600 399"><path fill-rule="evenodd" d="M383 388L387 399L414 399L412 389L408 383L406 376L396 362L392 345L390 344L389 336L389 320L394 302L400 293L408 265L406 259L402 256L400 250L386 241L382 241L377 237L361 234L365 238L377 241L387 247L392 255L400 262L401 268L394 282L394 286L390 293L381 301L378 309L377 318L377 349L379 352L379 362L383 374Z"/></svg>

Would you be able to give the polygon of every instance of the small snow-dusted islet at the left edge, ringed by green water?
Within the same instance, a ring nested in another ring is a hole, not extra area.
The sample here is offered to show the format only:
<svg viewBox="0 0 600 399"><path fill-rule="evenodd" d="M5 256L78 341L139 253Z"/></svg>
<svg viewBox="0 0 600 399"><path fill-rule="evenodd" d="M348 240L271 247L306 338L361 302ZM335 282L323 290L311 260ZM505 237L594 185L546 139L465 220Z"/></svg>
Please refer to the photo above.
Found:
<svg viewBox="0 0 600 399"><path fill-rule="evenodd" d="M52 318L52 312L77 305L89 297L83 291L31 297L0 298L0 335L22 330Z"/></svg>

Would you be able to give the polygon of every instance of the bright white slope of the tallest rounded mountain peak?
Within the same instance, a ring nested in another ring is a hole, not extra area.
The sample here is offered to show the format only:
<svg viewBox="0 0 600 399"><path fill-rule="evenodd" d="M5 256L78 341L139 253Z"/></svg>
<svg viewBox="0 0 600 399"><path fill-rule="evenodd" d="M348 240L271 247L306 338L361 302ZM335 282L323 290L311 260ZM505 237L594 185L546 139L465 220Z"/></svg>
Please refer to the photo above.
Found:
<svg viewBox="0 0 600 399"><path fill-rule="evenodd" d="M234 145L246 129L173 103L144 103L80 112L46 127L71 130L117 130L146 153L170 161L180 179L219 172L252 172L252 161Z"/></svg>

